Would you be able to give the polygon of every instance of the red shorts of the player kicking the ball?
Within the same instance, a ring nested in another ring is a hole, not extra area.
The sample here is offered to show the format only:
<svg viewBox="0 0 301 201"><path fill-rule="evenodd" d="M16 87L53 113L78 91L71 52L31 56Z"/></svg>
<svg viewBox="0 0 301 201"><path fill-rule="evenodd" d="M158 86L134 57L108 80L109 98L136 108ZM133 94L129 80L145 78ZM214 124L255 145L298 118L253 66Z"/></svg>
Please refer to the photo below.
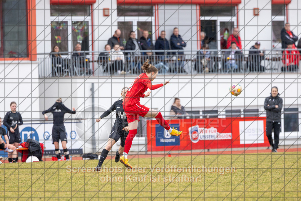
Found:
<svg viewBox="0 0 301 201"><path fill-rule="evenodd" d="M132 106L123 105L123 109L126 112L126 118L128 119L128 123L131 123L135 120L139 121L139 116L144 117L146 113L150 110L150 108L141 104L136 104Z"/></svg>

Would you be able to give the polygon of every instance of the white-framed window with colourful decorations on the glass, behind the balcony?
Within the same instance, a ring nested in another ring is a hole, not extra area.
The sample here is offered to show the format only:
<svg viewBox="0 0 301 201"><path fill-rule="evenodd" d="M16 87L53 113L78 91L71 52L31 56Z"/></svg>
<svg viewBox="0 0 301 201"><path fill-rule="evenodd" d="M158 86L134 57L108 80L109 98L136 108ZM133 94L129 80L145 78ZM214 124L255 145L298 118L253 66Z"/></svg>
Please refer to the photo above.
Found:
<svg viewBox="0 0 301 201"><path fill-rule="evenodd" d="M72 52L76 43L92 51L91 5L51 5L51 48Z"/></svg>

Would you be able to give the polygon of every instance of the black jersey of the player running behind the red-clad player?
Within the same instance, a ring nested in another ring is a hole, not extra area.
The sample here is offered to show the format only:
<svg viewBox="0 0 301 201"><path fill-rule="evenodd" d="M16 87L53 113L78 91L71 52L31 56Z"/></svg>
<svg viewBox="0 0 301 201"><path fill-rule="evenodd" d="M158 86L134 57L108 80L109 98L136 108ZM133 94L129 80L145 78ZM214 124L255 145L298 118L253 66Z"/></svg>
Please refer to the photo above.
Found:
<svg viewBox="0 0 301 201"><path fill-rule="evenodd" d="M122 100L114 102L114 104L107 111L105 111L104 114L100 116L100 118L104 118L111 112L116 110L116 120L114 123L114 127L118 130L122 130L124 127L129 126L128 120L126 119L126 113L123 110L122 102Z"/></svg>

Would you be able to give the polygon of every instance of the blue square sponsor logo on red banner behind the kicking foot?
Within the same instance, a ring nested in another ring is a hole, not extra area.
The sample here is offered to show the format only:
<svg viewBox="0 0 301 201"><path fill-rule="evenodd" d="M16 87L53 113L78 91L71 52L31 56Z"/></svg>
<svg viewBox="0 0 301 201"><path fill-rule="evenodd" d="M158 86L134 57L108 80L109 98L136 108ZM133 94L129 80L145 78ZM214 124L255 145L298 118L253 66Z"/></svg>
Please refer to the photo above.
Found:
<svg viewBox="0 0 301 201"><path fill-rule="evenodd" d="M179 129L179 124L169 124L170 127ZM156 124L156 146L180 145L180 137L172 136L161 125Z"/></svg>

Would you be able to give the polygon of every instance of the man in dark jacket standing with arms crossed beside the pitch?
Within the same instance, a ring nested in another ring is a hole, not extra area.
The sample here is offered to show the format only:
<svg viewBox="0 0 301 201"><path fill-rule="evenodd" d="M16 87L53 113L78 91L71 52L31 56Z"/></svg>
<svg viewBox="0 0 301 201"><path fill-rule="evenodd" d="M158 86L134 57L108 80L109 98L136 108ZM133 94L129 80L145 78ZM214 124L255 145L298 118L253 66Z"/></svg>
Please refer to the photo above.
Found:
<svg viewBox="0 0 301 201"><path fill-rule="evenodd" d="M281 109L282 98L279 97L277 86L272 87L271 96L266 97L264 101L264 109L266 110L266 136L272 146L273 152L277 152L279 143L279 133L281 131ZM274 140L272 138L272 130L274 129Z"/></svg>

